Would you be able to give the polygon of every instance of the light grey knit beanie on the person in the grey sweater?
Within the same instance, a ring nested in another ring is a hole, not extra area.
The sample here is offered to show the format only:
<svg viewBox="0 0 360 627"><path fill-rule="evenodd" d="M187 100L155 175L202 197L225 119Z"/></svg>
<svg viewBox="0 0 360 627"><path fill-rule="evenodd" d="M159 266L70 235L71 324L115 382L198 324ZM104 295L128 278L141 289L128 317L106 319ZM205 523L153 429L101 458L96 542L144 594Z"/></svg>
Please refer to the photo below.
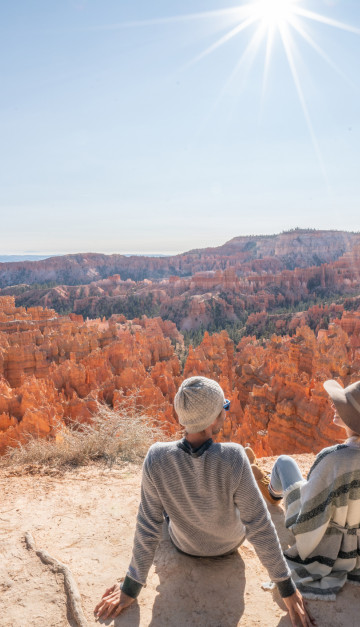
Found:
<svg viewBox="0 0 360 627"><path fill-rule="evenodd" d="M198 433L216 420L224 402L224 392L216 381L190 377L179 387L174 407L187 433Z"/></svg>

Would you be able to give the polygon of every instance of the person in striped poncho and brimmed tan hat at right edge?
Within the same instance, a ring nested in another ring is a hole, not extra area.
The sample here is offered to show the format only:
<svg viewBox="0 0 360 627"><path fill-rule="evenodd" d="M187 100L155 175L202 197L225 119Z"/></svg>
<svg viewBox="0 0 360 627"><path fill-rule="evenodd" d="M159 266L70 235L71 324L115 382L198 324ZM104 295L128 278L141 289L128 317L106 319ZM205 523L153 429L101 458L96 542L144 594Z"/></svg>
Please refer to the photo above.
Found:
<svg viewBox="0 0 360 627"><path fill-rule="evenodd" d="M324 388L347 440L322 450L306 481L296 462L281 455L267 489L270 502L284 498L285 524L295 536L284 554L298 590L305 598L335 600L346 581L360 585L360 381L344 389L330 380ZM261 484L262 471L252 468ZM265 477L262 483L266 496Z"/></svg>

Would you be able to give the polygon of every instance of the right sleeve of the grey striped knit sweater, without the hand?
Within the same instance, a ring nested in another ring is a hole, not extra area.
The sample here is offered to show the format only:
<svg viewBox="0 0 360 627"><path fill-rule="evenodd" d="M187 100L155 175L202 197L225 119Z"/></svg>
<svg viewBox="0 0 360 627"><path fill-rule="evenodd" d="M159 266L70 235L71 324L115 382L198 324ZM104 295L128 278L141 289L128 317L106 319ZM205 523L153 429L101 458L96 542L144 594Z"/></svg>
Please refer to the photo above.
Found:
<svg viewBox="0 0 360 627"><path fill-rule="evenodd" d="M257 556L267 569L270 578L279 584L281 596L290 596L295 592L295 586L290 579L291 573L284 559L269 511L245 455L234 500L240 511L241 521L246 528L247 539L254 545Z"/></svg>

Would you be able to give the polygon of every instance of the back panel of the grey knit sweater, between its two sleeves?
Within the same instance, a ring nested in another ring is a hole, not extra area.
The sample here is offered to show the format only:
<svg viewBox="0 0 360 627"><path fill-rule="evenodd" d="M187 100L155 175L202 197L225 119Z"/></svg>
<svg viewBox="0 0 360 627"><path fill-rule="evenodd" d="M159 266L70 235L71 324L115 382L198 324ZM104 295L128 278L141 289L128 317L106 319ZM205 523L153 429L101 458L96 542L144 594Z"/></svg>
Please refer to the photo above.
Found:
<svg viewBox="0 0 360 627"><path fill-rule="evenodd" d="M208 440L194 452L185 439L157 443L150 448L145 464L169 517L175 546L191 555L215 556L240 544L245 527L235 499L239 486L245 495L252 485L246 482L239 444ZM246 518L251 516L247 507L244 498Z"/></svg>

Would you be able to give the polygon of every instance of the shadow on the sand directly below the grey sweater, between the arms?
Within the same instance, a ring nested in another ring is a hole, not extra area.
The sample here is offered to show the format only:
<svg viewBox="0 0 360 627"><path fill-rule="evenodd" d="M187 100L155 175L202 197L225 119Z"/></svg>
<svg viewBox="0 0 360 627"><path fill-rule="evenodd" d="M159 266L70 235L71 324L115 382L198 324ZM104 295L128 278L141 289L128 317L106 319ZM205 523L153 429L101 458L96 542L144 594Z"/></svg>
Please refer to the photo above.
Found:
<svg viewBox="0 0 360 627"><path fill-rule="evenodd" d="M188 557L173 547L164 529L155 568L160 584L149 627L239 624L244 612L245 564L237 551L222 558Z"/></svg>

